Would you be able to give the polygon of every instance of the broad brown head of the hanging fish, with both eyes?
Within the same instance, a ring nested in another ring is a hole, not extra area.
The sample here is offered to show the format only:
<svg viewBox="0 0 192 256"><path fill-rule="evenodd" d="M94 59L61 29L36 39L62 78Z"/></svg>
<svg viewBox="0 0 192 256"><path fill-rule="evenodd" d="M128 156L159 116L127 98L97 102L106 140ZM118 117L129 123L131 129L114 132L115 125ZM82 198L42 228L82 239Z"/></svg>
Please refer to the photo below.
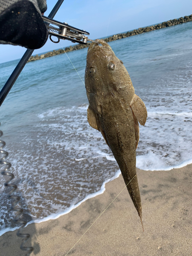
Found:
<svg viewBox="0 0 192 256"><path fill-rule="evenodd" d="M119 97L121 94L126 94L126 104L129 104L135 93L129 73L110 45L102 39L96 39L96 41L101 45L96 43L90 45L85 74L90 104L95 102L96 98L103 100L111 96Z"/></svg>

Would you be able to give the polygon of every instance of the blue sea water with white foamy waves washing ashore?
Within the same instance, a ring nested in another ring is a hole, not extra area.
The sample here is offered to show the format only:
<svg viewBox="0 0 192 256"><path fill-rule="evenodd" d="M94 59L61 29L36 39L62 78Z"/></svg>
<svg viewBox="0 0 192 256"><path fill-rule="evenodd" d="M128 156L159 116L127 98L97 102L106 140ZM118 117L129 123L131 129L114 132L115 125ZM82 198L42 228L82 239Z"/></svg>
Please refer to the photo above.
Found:
<svg viewBox="0 0 192 256"><path fill-rule="evenodd" d="M192 163L191 29L186 23L110 42L148 112L140 126L138 168ZM87 50L68 53L82 80ZM0 65L1 88L17 62ZM120 174L101 134L88 124L87 108L84 84L65 54L29 62L1 106L2 139L28 222L69 212ZM17 228L4 182L2 176L0 235Z"/></svg>

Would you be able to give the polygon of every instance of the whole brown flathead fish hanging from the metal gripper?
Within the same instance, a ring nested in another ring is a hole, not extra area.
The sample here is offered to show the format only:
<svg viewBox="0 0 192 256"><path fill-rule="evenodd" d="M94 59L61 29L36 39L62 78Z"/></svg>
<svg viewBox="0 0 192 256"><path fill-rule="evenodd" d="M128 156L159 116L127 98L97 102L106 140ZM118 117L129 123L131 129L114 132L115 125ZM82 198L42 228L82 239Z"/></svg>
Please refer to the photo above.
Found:
<svg viewBox="0 0 192 256"><path fill-rule="evenodd" d="M119 165L122 177L142 223L142 206L136 173L139 124L144 125L147 110L135 94L123 62L102 39L88 48L84 76L89 106L89 124L101 132Z"/></svg>

